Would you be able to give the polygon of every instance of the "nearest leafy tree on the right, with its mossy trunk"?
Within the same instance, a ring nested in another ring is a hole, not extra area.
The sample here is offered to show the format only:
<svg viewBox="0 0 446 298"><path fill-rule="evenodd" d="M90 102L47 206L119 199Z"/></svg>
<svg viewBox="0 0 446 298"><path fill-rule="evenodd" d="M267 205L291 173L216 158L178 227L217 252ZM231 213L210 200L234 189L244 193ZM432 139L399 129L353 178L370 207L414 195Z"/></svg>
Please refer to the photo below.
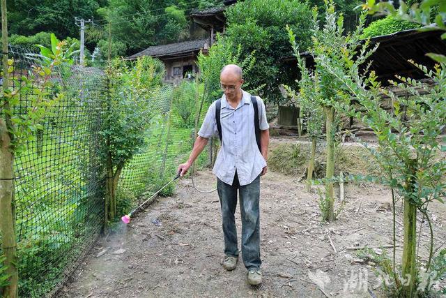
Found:
<svg viewBox="0 0 446 298"><path fill-rule="evenodd" d="M367 52L366 47L364 45L359 56L348 54L344 64L333 64L326 58L321 63L336 80L344 84L346 98L353 97L359 102L355 110L345 110L346 106L338 106L340 110L355 115L376 134L378 148L369 148L369 151L384 170L383 177L378 181L396 190L404 204L401 274L395 265L395 250L393 257L395 294L399 297L420 297L428 294L434 278L442 278L444 274L443 271L442 276L438 276L435 271L438 268L431 267L433 223L428 207L434 200L443 202L446 198L446 161L438 158L441 151L446 151L446 147L440 143L440 135L446 123L446 101L442 100L446 96L446 65L440 64L429 70L412 61L434 84L428 86L417 80L397 76L401 83L390 83L404 91L403 96L398 96L389 89L381 88L373 72L368 75L360 72L359 66L367 57L364 54ZM421 93L420 90L427 92ZM392 98L394 112L383 108L382 94ZM410 100L407 100L406 94ZM431 234L426 272L421 270L417 262L418 211L426 219ZM394 211L394 244L395 216ZM420 286L423 273L427 281Z"/></svg>

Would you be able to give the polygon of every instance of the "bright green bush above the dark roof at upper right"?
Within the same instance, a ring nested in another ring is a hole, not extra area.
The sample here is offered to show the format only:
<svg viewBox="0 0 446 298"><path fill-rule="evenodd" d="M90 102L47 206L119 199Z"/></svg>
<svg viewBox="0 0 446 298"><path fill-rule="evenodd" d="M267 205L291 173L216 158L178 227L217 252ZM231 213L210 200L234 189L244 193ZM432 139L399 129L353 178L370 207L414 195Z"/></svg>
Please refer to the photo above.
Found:
<svg viewBox="0 0 446 298"><path fill-rule="evenodd" d="M422 27L421 24L403 20L396 20L394 19L394 17L389 16L385 17L385 19L371 22L371 24L369 24L369 27L365 28L362 32L361 38L366 39L375 36L383 36L420 27Z"/></svg>

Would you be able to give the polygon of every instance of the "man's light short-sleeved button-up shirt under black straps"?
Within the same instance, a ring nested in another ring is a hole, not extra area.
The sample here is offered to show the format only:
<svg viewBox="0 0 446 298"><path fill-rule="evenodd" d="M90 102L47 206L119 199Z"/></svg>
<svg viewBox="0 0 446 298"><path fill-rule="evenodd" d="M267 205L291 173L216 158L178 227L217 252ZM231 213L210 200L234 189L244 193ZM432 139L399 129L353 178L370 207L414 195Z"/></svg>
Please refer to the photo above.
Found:
<svg viewBox="0 0 446 298"><path fill-rule="evenodd" d="M243 90L242 92L243 98L235 109L229 105L226 96L224 94L222 96L220 111L222 147L213 168L213 173L226 184L232 184L237 170L240 186L254 181L266 166L265 158L261 155L256 142L251 94ZM266 121L265 104L259 96L256 99L260 129L265 131L270 127ZM218 135L215 102L210 105L198 135L206 139Z"/></svg>

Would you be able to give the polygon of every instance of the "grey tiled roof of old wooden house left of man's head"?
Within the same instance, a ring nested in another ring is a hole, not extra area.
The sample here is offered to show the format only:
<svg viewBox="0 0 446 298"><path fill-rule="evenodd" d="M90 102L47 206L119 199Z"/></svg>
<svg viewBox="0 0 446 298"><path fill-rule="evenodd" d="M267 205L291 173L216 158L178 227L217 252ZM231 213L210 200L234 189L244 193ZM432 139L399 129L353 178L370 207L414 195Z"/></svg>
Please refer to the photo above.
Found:
<svg viewBox="0 0 446 298"><path fill-rule="evenodd" d="M137 54L133 54L128 59L137 59L141 56L158 57L161 59L171 59L190 56L191 54L197 54L205 43L209 43L208 39L197 39L183 41L182 43L169 43L167 45L154 45L146 48Z"/></svg>

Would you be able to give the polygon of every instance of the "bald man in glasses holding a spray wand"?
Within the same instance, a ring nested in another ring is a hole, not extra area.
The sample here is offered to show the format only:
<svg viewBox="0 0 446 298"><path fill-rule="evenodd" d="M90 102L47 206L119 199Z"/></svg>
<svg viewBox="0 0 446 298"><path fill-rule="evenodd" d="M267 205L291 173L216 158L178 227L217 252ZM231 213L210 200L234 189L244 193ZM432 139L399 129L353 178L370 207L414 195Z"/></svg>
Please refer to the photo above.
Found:
<svg viewBox="0 0 446 298"><path fill-rule="evenodd" d="M237 191L240 196L242 216L242 257L248 270L247 280L251 285L262 282L260 270L260 176L266 174L268 167L269 132L266 121L265 105L256 97L259 112L260 150L256 141L254 126L254 102L251 95L241 89L243 73L239 66L224 66L220 73L220 86L223 96L220 100L219 131L215 109L216 100L210 105L201 125L194 148L186 163L178 166L183 176L197 156L203 151L209 137L221 133L222 147L213 169L217 176L217 191L222 208L224 234L223 267L236 269L238 262L237 231L234 213L237 207Z"/></svg>

